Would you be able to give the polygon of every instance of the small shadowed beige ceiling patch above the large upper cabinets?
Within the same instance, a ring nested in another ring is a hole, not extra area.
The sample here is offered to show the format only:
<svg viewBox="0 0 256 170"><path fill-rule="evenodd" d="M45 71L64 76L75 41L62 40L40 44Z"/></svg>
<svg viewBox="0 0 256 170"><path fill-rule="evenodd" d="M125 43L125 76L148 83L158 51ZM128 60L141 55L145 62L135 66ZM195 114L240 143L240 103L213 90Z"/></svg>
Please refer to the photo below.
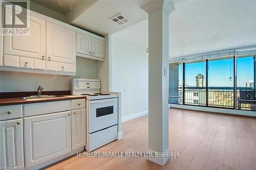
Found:
<svg viewBox="0 0 256 170"><path fill-rule="evenodd" d="M67 14L69 11L75 8L75 6L83 0L32 0L33 2L54 10L60 14Z"/></svg>

